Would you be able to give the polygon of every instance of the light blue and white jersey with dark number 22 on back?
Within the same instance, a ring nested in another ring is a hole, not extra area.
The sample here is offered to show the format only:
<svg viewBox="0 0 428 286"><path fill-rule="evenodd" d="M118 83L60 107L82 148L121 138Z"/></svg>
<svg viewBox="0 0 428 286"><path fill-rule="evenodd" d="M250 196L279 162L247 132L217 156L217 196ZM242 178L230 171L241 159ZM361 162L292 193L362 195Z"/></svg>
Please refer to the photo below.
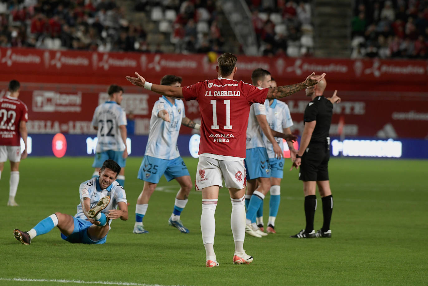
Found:
<svg viewBox="0 0 428 286"><path fill-rule="evenodd" d="M125 150L119 130L121 125L126 125L126 113L116 102L106 101L95 108L92 126L98 126L96 153Z"/></svg>

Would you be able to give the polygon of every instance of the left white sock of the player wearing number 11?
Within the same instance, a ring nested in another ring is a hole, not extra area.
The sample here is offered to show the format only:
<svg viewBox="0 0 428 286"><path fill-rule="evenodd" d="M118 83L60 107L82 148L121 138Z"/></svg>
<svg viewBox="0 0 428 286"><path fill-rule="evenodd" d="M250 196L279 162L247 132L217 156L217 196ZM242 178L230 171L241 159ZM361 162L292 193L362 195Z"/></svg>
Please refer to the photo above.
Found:
<svg viewBox="0 0 428 286"><path fill-rule="evenodd" d="M217 199L202 199L201 232L205 247L206 259L215 261L214 235L215 235L215 209Z"/></svg>

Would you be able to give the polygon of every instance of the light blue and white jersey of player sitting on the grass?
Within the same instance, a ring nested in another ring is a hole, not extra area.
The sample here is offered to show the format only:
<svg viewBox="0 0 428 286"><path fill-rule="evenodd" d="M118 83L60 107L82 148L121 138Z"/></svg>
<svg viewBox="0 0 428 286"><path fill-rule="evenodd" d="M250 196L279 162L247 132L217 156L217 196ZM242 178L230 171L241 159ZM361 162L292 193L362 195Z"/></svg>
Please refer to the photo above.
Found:
<svg viewBox="0 0 428 286"><path fill-rule="evenodd" d="M102 190L100 187L100 183L98 181L100 177L94 177L88 181L80 184L79 194L80 199L82 198L90 198L91 199L91 208L93 208L101 198L105 196L110 196L110 203L107 205L107 208L104 208L101 212L104 214L108 214L110 210L117 209L118 202L127 202L125 190L118 182L113 181L113 183L107 187L107 189ZM82 220L86 220L87 217L83 214L82 205L77 205L77 214L74 216L76 218L80 218ZM112 220L109 220L109 225Z"/></svg>

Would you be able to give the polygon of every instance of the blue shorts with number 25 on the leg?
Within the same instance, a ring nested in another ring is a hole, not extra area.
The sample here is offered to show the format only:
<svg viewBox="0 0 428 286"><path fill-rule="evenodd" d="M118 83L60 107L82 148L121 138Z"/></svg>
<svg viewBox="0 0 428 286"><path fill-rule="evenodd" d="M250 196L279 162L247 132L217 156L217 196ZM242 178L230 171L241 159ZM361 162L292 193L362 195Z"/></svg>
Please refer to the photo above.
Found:
<svg viewBox="0 0 428 286"><path fill-rule="evenodd" d="M160 177L165 175L166 181L182 176L190 176L186 164L181 157L172 160L159 159L150 156L144 156L141 162L138 177L140 180L158 184Z"/></svg>

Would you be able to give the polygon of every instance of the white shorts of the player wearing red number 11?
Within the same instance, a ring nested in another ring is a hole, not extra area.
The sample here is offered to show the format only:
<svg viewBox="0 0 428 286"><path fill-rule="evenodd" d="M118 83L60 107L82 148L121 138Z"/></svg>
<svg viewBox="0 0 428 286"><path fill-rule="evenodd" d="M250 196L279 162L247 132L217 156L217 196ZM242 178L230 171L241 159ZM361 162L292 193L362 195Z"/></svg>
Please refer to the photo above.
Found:
<svg viewBox="0 0 428 286"><path fill-rule="evenodd" d="M223 187L223 180L226 188L244 189L247 185L245 177L244 160L223 161L208 157L199 157L198 168L196 170L196 190L206 187Z"/></svg>

